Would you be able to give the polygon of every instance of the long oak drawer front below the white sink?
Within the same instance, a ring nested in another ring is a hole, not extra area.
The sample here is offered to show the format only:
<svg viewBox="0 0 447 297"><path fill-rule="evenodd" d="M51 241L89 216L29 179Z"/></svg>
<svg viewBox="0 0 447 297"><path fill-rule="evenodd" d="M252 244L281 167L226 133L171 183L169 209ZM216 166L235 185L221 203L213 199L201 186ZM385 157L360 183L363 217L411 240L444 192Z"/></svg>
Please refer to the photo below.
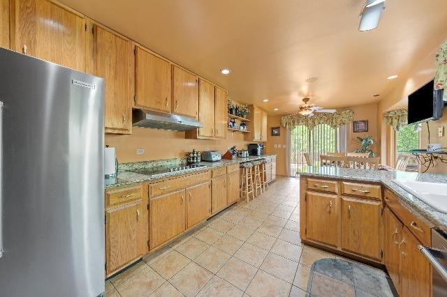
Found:
<svg viewBox="0 0 447 297"><path fill-rule="evenodd" d="M416 215L402 205L399 198L390 192L390 190L385 190L385 202L395 215L397 215L397 218L404 223L423 245L431 245L432 237L430 227L422 220L416 218Z"/></svg>

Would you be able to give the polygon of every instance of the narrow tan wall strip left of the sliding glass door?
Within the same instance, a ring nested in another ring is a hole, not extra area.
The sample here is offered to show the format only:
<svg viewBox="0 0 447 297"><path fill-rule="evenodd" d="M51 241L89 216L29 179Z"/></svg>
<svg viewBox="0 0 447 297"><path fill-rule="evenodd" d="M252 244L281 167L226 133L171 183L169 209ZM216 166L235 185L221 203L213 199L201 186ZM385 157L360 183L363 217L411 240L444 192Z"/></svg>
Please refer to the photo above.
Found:
<svg viewBox="0 0 447 297"><path fill-rule="evenodd" d="M279 136L272 136L272 127L281 127ZM281 116L268 116L266 153L277 155L277 175L288 176L287 170L287 129L281 126ZM277 145L275 148L274 145Z"/></svg>

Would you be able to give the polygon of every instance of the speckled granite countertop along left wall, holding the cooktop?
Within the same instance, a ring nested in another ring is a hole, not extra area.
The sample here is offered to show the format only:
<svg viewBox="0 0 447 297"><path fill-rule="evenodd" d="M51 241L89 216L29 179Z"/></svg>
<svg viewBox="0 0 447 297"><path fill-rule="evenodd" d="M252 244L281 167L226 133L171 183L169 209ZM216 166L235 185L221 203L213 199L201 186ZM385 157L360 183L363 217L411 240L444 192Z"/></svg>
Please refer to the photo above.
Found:
<svg viewBox="0 0 447 297"><path fill-rule="evenodd" d="M135 183L144 183L147 181L155 181L161 178L167 178L172 176L180 176L184 174L191 174L196 172L205 172L209 169L225 167L233 164L239 164L243 162L249 162L254 160L261 160L264 158L272 157L274 155L261 155L261 156L249 156L249 158L235 158L233 160L222 159L219 162L200 162L199 165L203 165L203 167L191 168L182 170L180 172L163 172L161 174L139 174L134 172L133 170L141 169L141 166L145 165L144 163L141 165L133 165L132 163L128 163L123 165L126 170L122 170L118 172L116 178L105 178L105 189L117 188L123 185L133 185ZM142 163L142 162L138 162ZM157 164L158 165L158 164Z"/></svg>

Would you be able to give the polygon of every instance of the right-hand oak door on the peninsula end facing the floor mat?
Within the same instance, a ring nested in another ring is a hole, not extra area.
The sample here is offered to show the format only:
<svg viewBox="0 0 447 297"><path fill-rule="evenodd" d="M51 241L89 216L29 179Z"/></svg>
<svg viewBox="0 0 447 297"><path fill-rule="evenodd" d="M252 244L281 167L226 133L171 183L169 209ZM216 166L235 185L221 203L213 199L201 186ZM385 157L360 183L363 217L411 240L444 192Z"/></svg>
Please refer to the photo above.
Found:
<svg viewBox="0 0 447 297"><path fill-rule="evenodd" d="M342 197L342 249L381 260L381 201Z"/></svg>

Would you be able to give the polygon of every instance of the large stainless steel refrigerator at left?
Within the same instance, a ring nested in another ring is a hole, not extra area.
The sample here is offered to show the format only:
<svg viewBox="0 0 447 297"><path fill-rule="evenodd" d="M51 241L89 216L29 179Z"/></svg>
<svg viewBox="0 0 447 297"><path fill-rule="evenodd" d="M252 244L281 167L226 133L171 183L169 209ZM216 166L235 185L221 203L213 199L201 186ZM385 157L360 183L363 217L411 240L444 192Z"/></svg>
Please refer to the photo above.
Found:
<svg viewBox="0 0 447 297"><path fill-rule="evenodd" d="M103 79L0 49L0 296L104 291Z"/></svg>

